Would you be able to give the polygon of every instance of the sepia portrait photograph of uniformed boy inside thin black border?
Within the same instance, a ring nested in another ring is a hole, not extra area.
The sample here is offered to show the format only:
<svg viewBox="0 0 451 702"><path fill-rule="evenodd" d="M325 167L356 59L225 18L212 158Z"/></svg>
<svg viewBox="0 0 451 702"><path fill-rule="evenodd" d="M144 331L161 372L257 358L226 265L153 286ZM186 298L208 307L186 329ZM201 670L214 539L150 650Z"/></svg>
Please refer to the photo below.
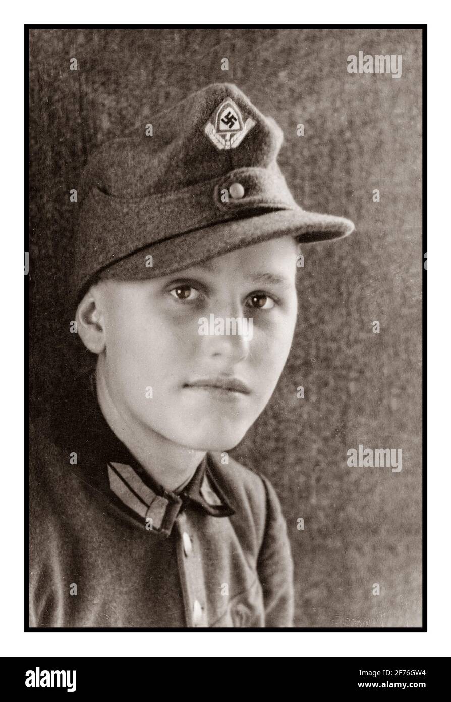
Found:
<svg viewBox="0 0 451 702"><path fill-rule="evenodd" d="M25 630L425 630L423 44L25 31Z"/></svg>

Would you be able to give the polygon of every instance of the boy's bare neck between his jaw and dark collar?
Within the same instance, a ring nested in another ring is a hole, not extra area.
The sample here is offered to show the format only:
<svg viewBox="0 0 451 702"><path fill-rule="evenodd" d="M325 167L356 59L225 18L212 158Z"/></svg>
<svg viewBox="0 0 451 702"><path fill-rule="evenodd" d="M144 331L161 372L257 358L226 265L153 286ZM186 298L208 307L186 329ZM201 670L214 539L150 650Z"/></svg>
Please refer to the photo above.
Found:
<svg viewBox="0 0 451 702"><path fill-rule="evenodd" d="M137 424L114 403L100 364L95 372L95 385L102 414L116 437L164 489L171 492L182 489L196 472L206 451L174 444L154 430Z"/></svg>

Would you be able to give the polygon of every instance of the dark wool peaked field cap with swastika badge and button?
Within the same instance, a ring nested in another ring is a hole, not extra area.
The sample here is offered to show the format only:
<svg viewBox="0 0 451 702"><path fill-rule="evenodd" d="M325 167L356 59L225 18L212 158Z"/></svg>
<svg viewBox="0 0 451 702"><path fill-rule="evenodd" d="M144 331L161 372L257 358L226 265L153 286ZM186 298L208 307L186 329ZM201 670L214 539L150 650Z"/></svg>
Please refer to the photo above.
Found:
<svg viewBox="0 0 451 702"><path fill-rule="evenodd" d="M88 159L72 290L144 280L285 234L346 237L345 218L304 210L277 163L283 133L234 84L215 83Z"/></svg>

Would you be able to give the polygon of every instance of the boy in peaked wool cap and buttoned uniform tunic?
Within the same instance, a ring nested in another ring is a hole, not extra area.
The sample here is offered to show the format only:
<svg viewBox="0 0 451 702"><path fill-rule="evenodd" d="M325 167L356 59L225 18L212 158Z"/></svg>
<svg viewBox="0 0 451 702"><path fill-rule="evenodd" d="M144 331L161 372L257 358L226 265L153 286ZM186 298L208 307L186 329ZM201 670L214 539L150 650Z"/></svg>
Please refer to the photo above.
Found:
<svg viewBox="0 0 451 702"><path fill-rule="evenodd" d="M292 626L276 491L229 456L295 329L302 210L276 122L213 84L90 157L73 289L96 357L30 468L30 627Z"/></svg>

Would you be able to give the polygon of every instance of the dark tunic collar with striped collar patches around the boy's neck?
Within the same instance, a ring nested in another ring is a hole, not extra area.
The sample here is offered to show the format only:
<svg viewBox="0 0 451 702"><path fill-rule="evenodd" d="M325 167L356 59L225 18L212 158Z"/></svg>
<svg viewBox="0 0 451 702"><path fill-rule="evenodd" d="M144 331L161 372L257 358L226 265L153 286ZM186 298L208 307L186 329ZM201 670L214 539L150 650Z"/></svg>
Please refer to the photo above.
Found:
<svg viewBox="0 0 451 702"><path fill-rule="evenodd" d="M70 402L72 419L66 424L72 446L79 446L79 475L95 489L108 494L116 505L144 528L169 536L177 515L187 507L212 517L229 517L235 510L215 479L215 463L203 457L189 482L176 492L166 490L136 460L114 434L100 409L95 371L77 379L77 397ZM76 413L74 412L76 407ZM86 470L89 468L89 470Z"/></svg>

